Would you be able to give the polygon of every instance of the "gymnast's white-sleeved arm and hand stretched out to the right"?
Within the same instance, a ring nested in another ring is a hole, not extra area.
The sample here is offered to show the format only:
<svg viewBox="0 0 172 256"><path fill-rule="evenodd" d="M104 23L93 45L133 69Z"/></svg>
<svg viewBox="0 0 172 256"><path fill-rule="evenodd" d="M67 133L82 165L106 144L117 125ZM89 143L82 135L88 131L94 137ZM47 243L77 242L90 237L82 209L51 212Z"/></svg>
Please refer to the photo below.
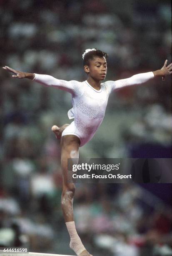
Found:
<svg viewBox="0 0 172 256"><path fill-rule="evenodd" d="M135 74L134 76L127 79L120 79L114 82L108 81L107 83L111 85L112 90L116 90L125 86L145 83L154 77L162 77L162 80L164 81L167 75L172 74L172 63L168 66L166 65L167 60L165 61L164 66L161 69L158 69L154 72Z"/></svg>

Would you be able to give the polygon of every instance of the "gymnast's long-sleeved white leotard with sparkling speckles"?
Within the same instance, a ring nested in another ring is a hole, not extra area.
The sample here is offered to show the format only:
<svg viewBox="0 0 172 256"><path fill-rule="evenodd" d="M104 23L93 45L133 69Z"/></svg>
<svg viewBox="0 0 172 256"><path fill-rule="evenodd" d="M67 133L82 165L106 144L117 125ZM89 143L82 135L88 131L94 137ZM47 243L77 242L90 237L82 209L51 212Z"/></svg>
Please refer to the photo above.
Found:
<svg viewBox="0 0 172 256"><path fill-rule="evenodd" d="M87 80L78 82L65 81L49 75L35 74L35 82L45 86L53 86L72 94L73 108L68 111L69 119L74 121L65 128L62 136L75 135L80 138L80 147L90 141L105 116L110 93L120 87L141 84L153 78L153 72L134 75L127 79L101 83L101 89L95 90Z"/></svg>

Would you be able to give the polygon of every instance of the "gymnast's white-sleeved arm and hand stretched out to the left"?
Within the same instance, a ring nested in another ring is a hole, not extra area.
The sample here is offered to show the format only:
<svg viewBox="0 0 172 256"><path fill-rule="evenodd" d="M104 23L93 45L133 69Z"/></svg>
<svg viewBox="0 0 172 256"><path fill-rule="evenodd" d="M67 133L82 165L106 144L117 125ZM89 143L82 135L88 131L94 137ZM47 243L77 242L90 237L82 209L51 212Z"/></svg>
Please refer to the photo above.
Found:
<svg viewBox="0 0 172 256"><path fill-rule="evenodd" d="M71 94L75 94L75 87L77 82L76 81L65 81L65 80L60 80L56 79L55 77L52 77L50 75L46 74L33 74L33 73L26 73L26 72L21 72L19 70L12 69L10 67L3 67L3 69L12 72L13 78L28 78L30 80L34 80L35 82L38 82L40 84L43 84L45 86L52 86L59 88L61 90L70 92Z"/></svg>

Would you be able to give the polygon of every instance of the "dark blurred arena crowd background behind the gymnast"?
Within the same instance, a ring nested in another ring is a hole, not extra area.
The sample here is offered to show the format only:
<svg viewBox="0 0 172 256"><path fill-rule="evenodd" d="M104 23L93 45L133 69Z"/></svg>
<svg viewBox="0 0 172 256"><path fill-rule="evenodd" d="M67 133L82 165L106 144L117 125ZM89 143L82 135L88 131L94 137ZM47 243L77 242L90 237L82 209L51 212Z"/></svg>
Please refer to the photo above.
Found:
<svg viewBox="0 0 172 256"><path fill-rule="evenodd" d="M171 62L168 0L0 0L0 64L84 81L82 54L109 54L106 80ZM0 246L72 254L62 218L60 146L71 95L0 69ZM80 156L171 158L171 77L112 93ZM75 223L94 256L172 255L171 184L77 184Z"/></svg>

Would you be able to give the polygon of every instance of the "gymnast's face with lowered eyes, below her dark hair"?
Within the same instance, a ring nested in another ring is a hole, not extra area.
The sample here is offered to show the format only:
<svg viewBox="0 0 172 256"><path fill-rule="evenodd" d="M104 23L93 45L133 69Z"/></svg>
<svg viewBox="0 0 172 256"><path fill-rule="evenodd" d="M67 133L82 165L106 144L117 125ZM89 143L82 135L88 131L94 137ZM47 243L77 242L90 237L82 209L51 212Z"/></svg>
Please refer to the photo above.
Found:
<svg viewBox="0 0 172 256"><path fill-rule="evenodd" d="M90 60L89 66L85 66L84 69L85 72L96 81L104 80L107 73L105 57L95 56L93 60Z"/></svg>

